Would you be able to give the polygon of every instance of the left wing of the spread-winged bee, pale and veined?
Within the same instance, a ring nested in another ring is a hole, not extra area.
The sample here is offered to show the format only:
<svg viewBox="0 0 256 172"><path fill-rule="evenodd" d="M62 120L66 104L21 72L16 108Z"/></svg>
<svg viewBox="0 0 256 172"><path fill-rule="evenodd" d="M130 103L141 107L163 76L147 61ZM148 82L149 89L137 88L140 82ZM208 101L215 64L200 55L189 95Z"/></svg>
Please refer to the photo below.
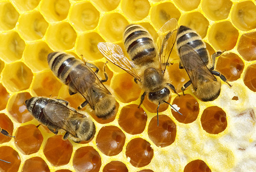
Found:
<svg viewBox="0 0 256 172"><path fill-rule="evenodd" d="M140 80L140 75L135 69L132 61L124 55L122 48L113 43L98 43L98 49L101 54L109 61L114 63L119 68L132 75L134 78Z"/></svg>

